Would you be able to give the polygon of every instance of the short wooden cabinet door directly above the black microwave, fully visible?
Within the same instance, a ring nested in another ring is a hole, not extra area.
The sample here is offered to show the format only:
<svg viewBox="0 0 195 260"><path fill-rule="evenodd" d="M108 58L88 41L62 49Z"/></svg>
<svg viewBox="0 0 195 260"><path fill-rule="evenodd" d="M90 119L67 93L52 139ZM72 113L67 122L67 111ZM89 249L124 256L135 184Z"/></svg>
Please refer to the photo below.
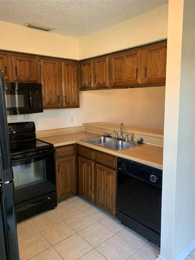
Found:
<svg viewBox="0 0 195 260"><path fill-rule="evenodd" d="M38 82L36 57L12 55L12 68L14 81Z"/></svg>

